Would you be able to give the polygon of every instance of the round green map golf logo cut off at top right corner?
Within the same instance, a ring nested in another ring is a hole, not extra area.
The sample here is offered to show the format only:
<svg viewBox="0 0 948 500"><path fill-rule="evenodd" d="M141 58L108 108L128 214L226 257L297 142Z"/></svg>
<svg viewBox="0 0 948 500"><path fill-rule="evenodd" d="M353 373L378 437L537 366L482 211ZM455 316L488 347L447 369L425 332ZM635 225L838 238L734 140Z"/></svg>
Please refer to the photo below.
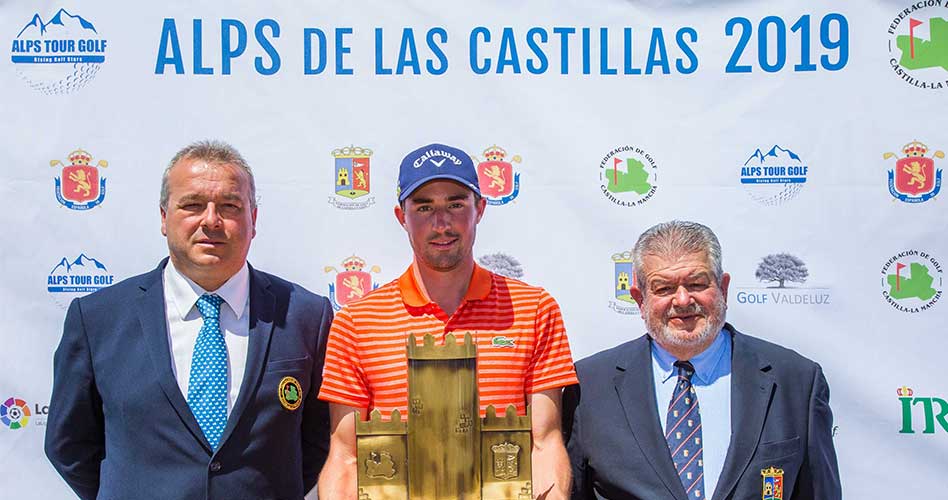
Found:
<svg viewBox="0 0 948 500"><path fill-rule="evenodd" d="M948 10L943 0L906 5L889 23L889 66L920 89L948 87Z"/></svg>

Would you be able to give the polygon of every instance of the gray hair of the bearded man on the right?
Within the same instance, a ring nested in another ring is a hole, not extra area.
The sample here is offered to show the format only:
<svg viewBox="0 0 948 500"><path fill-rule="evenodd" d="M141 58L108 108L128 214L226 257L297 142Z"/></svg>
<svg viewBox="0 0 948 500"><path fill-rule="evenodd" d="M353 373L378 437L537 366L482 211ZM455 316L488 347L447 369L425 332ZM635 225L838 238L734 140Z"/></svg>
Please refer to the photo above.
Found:
<svg viewBox="0 0 948 500"><path fill-rule="evenodd" d="M690 253L703 253L708 258L708 267L714 274L714 280L720 284L724 271L721 269L721 243L709 227L673 220L662 222L648 228L632 249L632 265L635 267L635 281L639 289L645 291L645 273L642 258L646 255L676 257Z"/></svg>

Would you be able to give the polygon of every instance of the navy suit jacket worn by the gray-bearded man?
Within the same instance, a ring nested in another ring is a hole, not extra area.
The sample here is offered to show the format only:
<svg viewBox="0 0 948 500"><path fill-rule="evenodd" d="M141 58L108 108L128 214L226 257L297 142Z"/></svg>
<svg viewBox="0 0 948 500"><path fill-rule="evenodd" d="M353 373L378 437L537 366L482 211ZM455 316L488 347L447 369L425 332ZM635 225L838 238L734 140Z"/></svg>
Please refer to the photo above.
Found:
<svg viewBox="0 0 948 500"><path fill-rule="evenodd" d="M731 325L725 333L733 339L731 440L711 500L761 498L770 467L783 470L784 500L841 498L820 366ZM576 363L579 385L564 395L574 500L695 500L662 432L650 342L642 336Z"/></svg>

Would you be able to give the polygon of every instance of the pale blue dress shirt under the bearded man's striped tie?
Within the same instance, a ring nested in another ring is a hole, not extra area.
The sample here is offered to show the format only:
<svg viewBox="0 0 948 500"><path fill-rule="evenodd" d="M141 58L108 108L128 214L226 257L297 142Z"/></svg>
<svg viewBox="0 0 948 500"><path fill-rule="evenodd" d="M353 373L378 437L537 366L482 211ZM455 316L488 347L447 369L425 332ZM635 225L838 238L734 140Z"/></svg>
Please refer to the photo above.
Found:
<svg viewBox="0 0 948 500"><path fill-rule="evenodd" d="M678 369L675 359L668 351L652 341L652 375L655 378L655 399L658 416L665 433L666 415ZM731 443L731 335L718 332L714 342L701 354L691 358L695 374L691 385L698 396L698 411L701 412L701 440L704 461L704 498L711 498L718 485L724 458Z"/></svg>

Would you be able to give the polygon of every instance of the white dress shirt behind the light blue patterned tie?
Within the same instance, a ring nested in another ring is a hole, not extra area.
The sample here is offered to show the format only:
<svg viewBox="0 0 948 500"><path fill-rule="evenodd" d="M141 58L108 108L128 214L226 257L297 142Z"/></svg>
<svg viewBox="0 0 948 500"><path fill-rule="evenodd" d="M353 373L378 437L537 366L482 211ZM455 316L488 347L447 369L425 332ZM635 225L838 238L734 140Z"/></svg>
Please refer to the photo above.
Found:
<svg viewBox="0 0 948 500"><path fill-rule="evenodd" d="M163 274L165 291L165 317L168 325L168 345L171 347L175 378L185 400L188 398L188 381L191 376L191 357L198 332L204 318L197 309L197 299L205 293L216 294L224 299L221 306L220 325L227 344L227 415L234 408L240 384L247 365L247 344L250 333L250 271L247 263L213 291L207 291L188 279L171 261ZM226 305L226 307L225 307Z"/></svg>

